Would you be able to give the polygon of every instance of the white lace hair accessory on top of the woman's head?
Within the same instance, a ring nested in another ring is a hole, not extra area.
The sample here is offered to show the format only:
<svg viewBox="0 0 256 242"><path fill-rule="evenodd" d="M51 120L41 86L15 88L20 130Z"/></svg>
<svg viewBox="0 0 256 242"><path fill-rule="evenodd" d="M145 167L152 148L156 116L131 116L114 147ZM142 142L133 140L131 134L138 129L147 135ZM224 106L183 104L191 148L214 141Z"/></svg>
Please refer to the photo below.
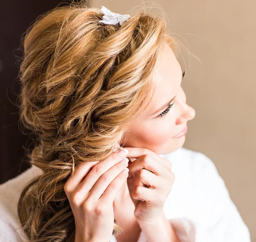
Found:
<svg viewBox="0 0 256 242"><path fill-rule="evenodd" d="M102 6L100 9L105 15L103 16L103 20L100 20L99 23L105 23L105 24L112 24L117 25L118 23L120 25L123 25L123 23L128 20L129 17L131 17L129 14L116 14L111 12L106 7Z"/></svg>

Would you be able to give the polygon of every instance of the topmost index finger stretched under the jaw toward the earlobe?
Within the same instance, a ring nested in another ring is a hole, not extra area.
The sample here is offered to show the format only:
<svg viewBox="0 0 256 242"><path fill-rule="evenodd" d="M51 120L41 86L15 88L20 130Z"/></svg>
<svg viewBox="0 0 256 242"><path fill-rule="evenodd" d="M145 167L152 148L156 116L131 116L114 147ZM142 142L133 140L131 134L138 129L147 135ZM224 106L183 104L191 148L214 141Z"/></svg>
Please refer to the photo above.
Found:
<svg viewBox="0 0 256 242"><path fill-rule="evenodd" d="M148 154L155 158L157 161L159 161L161 164L163 164L165 167L167 167L169 170L172 170L172 162L166 160L165 158L162 158L161 156L154 153L152 150L142 147L125 147L125 149L129 151L127 155L128 158L139 158L140 156Z"/></svg>

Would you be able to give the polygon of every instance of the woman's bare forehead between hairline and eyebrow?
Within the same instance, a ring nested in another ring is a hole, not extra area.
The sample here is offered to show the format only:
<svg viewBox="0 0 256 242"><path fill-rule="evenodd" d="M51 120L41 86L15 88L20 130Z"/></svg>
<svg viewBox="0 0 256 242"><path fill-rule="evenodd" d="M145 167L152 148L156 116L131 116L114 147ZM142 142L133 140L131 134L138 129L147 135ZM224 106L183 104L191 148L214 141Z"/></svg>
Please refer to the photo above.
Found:
<svg viewBox="0 0 256 242"><path fill-rule="evenodd" d="M181 66L171 47L167 44L164 46L156 65L153 78L156 86L152 100L145 109L146 115L151 115L157 108L171 100L180 88Z"/></svg>

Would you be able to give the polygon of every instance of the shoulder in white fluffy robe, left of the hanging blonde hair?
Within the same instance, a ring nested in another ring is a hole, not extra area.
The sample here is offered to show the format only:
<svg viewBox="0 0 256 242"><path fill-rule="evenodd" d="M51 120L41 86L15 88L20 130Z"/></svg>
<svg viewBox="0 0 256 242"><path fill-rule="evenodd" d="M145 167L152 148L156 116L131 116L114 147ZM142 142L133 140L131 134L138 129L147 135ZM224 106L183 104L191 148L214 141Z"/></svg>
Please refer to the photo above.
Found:
<svg viewBox="0 0 256 242"><path fill-rule="evenodd" d="M32 165L13 179L0 184L0 241L22 241L17 203L26 184L42 171Z"/></svg>

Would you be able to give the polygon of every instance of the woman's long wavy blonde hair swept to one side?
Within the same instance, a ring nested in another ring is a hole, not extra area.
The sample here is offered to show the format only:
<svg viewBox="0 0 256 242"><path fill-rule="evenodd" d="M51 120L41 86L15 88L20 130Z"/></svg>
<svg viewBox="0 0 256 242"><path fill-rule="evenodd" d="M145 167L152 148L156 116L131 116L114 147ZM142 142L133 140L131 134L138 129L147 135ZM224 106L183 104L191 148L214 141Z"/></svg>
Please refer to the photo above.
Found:
<svg viewBox="0 0 256 242"><path fill-rule="evenodd" d="M164 18L145 9L122 26L99 23L86 3L56 6L23 38L20 122L37 137L29 163L42 170L24 187L18 215L29 241L73 242L75 221L64 184L76 165L113 152L154 92L152 75L168 43ZM176 53L176 52L175 52ZM113 234L122 232L114 223Z"/></svg>

